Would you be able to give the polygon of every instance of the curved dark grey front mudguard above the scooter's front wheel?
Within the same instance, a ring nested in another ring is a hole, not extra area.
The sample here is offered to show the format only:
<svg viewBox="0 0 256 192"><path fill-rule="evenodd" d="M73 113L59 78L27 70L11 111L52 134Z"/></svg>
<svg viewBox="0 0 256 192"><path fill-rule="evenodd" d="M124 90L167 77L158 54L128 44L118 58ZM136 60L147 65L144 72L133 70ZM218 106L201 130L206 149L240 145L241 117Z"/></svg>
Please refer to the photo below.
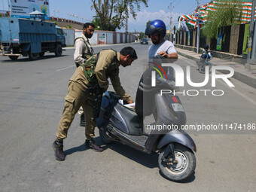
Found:
<svg viewBox="0 0 256 192"><path fill-rule="evenodd" d="M196 144L194 143L193 139L186 132L184 132L184 130L172 130L169 133L166 133L166 135L160 139L157 149L163 148L165 145L172 142L179 143L197 152Z"/></svg>

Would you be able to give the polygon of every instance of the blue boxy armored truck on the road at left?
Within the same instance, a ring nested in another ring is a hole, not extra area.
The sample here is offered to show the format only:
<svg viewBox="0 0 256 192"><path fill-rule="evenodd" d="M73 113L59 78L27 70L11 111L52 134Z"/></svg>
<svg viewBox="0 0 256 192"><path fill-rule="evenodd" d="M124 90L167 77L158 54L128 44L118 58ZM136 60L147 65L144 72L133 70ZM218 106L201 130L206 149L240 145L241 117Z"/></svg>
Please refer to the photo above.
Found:
<svg viewBox="0 0 256 192"><path fill-rule="evenodd" d="M45 52L62 55L65 35L52 22L20 18L0 18L0 55L16 60L20 55L38 59Z"/></svg>

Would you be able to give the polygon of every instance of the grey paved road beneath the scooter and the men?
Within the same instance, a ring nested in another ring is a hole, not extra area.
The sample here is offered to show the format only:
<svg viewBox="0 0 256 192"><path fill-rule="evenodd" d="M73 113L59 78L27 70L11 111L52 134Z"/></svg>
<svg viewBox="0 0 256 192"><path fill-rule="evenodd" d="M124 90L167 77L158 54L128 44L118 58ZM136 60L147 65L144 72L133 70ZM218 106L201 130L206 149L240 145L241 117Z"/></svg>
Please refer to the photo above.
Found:
<svg viewBox="0 0 256 192"><path fill-rule="evenodd" d="M130 44L139 59L120 68L125 90L136 97L145 69L149 45ZM117 51L126 45L112 46ZM106 47L95 47L96 52ZM0 186L1 191L255 191L256 131L192 131L197 144L197 168L184 183L163 178L157 154L143 154L115 143L96 153L84 147L84 128L75 117L65 140L66 160L58 162L51 147L62 113L68 80L75 71L73 49L57 58L16 62L0 57ZM195 62L179 56L184 72L190 66L192 81L201 82ZM224 96L182 96L187 124L255 123L256 90L230 79L235 88L217 81L216 87L185 90L224 90ZM189 92L192 94L192 92ZM96 130L96 141L101 142Z"/></svg>

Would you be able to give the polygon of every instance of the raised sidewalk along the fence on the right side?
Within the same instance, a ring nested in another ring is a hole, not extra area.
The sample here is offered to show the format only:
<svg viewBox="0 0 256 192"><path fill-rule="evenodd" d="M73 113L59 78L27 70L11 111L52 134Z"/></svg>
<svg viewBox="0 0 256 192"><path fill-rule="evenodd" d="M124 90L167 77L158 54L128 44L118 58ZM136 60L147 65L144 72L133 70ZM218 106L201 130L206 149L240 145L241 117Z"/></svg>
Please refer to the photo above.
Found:
<svg viewBox="0 0 256 192"><path fill-rule="evenodd" d="M185 56L189 59L193 59L194 61L198 61L200 59L201 53L197 54L194 51L184 50L178 47L175 47L178 55ZM245 69L245 66L239 62L228 61L224 59L219 59L213 57L211 60L212 66L230 66L234 69L233 78L241 81L244 84L248 84L251 87L256 89L256 70ZM225 71L219 71L224 73Z"/></svg>

